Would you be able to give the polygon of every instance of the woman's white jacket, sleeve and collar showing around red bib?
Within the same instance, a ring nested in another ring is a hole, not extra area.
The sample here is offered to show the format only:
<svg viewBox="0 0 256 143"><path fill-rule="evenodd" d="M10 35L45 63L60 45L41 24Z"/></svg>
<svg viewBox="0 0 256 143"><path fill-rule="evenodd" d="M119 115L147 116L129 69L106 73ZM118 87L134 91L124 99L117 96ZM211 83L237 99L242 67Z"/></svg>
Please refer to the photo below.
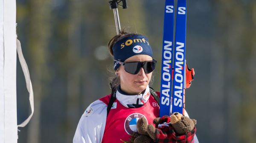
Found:
<svg viewBox="0 0 256 143"><path fill-rule="evenodd" d="M149 87L146 88L145 93L149 91ZM136 104L137 99L143 99L146 103L148 96L143 98L143 94L140 95L124 95L119 90L116 91L116 99L125 107L127 104ZM139 100L139 104L143 104ZM107 118L107 107L104 102L100 100L94 101L85 110L78 123L73 143L102 143L102 137L105 130L106 118ZM189 117L185 111L185 116ZM199 143L195 135L194 143Z"/></svg>

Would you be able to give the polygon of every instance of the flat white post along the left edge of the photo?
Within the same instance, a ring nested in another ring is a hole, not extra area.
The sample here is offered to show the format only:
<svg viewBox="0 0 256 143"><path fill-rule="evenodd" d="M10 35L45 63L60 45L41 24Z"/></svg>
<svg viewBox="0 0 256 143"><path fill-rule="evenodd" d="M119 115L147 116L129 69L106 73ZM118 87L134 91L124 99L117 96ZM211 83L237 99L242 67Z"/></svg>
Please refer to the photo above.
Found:
<svg viewBox="0 0 256 143"><path fill-rule="evenodd" d="M0 0L0 143L17 143L16 1Z"/></svg>

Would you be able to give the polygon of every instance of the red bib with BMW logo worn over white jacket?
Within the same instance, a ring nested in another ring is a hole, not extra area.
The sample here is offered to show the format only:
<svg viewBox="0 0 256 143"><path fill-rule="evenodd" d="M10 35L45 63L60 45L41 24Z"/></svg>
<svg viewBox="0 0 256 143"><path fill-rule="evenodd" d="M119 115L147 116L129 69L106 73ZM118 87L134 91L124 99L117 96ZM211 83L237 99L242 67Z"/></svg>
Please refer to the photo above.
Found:
<svg viewBox="0 0 256 143"><path fill-rule="evenodd" d="M100 98L108 105L111 95ZM133 132L137 132L137 121L145 117L149 123L153 123L154 118L159 117L159 106L152 95L143 107L124 107L116 100L108 114L102 143L123 143L128 141Z"/></svg>

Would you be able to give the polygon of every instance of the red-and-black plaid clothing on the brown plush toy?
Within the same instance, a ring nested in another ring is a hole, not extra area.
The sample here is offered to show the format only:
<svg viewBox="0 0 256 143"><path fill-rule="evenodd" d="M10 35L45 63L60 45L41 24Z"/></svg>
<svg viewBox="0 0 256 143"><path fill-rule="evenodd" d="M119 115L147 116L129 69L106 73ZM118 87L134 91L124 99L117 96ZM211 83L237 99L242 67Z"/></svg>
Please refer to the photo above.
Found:
<svg viewBox="0 0 256 143"><path fill-rule="evenodd" d="M164 115L160 119L160 123L156 128L156 140L157 143L193 143L196 128L185 135L178 135L175 133L175 129L170 123L171 119L169 116Z"/></svg>

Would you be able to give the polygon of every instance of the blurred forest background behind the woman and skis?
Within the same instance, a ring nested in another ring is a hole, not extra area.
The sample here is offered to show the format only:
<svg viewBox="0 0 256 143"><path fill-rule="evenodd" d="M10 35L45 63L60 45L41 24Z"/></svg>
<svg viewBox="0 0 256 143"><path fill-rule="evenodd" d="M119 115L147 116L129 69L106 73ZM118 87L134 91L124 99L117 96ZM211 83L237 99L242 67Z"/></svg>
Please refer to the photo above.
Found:
<svg viewBox="0 0 256 143"><path fill-rule="evenodd" d="M164 0L127 1L121 27L147 36L161 61ZM72 143L85 109L111 93L106 46L115 34L108 0L17 0L17 35L35 99L18 143ZM200 143L256 143L256 1L187 0L186 60L195 69L186 110L198 121ZM18 123L29 113L17 62Z"/></svg>

